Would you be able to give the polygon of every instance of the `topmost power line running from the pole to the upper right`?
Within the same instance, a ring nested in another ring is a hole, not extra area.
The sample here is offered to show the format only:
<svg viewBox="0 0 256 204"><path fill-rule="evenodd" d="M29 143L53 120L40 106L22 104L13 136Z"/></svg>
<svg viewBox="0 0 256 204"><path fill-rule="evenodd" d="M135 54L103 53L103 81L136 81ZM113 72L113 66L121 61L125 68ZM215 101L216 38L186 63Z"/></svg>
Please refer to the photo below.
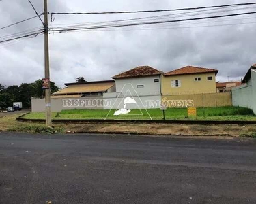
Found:
<svg viewBox="0 0 256 204"><path fill-rule="evenodd" d="M240 6L240 5L255 5L255 2L251 3L236 3L236 4L227 4L227 5L212 5L205 7L186 7L178 9L167 9L167 10L139 10L139 11L122 11L122 12L51 12L51 14L63 14L63 15L75 15L75 14L134 14L134 13L149 13L149 12L175 12L182 10L202 10L206 8L216 8L216 7L231 7L231 6Z"/></svg>

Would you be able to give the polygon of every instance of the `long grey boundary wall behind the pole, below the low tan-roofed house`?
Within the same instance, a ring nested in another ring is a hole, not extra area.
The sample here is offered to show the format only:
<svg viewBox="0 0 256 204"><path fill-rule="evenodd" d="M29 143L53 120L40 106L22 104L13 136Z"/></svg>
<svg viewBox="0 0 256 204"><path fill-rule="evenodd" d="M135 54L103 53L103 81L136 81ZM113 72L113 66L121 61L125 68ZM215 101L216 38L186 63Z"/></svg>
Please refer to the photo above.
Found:
<svg viewBox="0 0 256 204"><path fill-rule="evenodd" d="M78 100L79 99L79 100ZM79 97L79 98L65 98L65 99L51 99L51 111L61 112L64 109L103 109L103 97ZM44 112L44 99L31 99L32 112ZM86 107L85 107L86 106Z"/></svg>

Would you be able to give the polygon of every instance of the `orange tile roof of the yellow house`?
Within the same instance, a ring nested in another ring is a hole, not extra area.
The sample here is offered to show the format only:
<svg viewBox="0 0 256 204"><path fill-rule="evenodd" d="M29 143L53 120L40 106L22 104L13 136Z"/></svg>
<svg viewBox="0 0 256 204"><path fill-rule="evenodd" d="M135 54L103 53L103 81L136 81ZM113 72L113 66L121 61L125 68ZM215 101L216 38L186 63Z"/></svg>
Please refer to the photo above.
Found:
<svg viewBox="0 0 256 204"><path fill-rule="evenodd" d="M208 69L203 67L193 67L193 66L186 66L182 67L180 69L175 69L173 71L169 71L165 73L165 76L168 75L184 75L184 74L191 74L191 73L209 73L209 72L215 72L215 74L218 73L217 69Z"/></svg>

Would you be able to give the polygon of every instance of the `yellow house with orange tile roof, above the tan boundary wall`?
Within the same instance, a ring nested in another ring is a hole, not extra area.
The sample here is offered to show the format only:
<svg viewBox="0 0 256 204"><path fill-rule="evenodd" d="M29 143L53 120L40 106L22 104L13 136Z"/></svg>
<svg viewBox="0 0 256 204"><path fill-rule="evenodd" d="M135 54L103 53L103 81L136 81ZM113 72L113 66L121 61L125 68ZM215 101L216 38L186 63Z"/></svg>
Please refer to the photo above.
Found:
<svg viewBox="0 0 256 204"><path fill-rule="evenodd" d="M216 93L218 70L186 66L169 71L162 78L162 95Z"/></svg>

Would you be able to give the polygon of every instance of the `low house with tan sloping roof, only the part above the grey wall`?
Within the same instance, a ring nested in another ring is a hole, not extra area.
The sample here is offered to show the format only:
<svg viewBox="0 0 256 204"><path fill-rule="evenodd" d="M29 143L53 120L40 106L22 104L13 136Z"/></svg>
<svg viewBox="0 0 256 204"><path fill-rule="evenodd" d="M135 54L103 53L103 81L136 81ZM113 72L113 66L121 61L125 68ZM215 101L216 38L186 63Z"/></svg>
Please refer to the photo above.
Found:
<svg viewBox="0 0 256 204"><path fill-rule="evenodd" d="M115 81L94 81L80 83L66 83L67 88L59 90L51 96L57 98L76 98L87 96L103 96L105 92L115 92Z"/></svg>

